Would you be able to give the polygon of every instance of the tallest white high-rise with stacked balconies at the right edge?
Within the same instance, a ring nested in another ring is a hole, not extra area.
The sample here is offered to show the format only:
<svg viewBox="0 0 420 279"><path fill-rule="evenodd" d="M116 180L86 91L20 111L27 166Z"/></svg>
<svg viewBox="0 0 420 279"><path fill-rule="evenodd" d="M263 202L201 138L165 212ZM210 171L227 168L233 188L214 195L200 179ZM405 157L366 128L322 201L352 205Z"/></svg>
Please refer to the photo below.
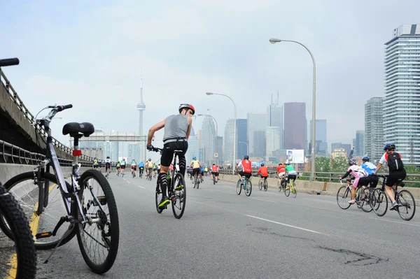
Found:
<svg viewBox="0 0 420 279"><path fill-rule="evenodd" d="M403 162L419 165L420 24L395 28L385 45L384 142L395 143Z"/></svg>

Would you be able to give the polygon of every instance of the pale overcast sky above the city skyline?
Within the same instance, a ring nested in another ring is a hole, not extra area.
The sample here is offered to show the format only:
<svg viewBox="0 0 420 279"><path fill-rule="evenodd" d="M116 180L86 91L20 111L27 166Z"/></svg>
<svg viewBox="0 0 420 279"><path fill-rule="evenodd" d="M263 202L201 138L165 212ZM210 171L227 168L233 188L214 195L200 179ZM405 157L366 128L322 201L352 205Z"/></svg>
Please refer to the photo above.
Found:
<svg viewBox="0 0 420 279"><path fill-rule="evenodd" d="M179 103L216 117L266 112L280 102L312 104L316 60L316 118L327 119L328 143L351 143L364 129L364 105L384 94L384 43L400 24L419 21L420 1L4 1L0 57L32 113L72 103L52 123L62 141L66 122L92 122L106 132L138 131L143 76L144 131L177 113ZM194 121L201 129L200 117ZM162 138L162 133L157 138Z"/></svg>

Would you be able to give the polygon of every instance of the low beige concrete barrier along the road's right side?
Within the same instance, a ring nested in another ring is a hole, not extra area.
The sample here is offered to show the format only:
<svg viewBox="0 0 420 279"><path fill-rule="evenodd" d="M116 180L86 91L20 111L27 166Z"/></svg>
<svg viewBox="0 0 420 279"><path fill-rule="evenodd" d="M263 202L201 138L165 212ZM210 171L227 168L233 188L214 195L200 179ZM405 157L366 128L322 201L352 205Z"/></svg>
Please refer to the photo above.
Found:
<svg viewBox="0 0 420 279"><path fill-rule="evenodd" d="M237 183L238 176L232 176L228 174L221 174L219 175L221 180L228 181L230 183ZM253 183L253 187L258 189L258 181L260 180L259 177L253 176L251 177L251 182ZM278 189L277 178L267 178L268 187L272 189ZM342 187L340 183L332 183L332 182L319 182L319 181L309 181L309 180L296 180L296 187L297 192L307 193L307 194L322 194L328 196L336 196L339 187ZM378 185L377 187L380 187ZM402 189L401 187L398 188L399 190ZM420 204L420 188L412 188L412 187L404 187L403 189L409 190L414 196L416 200L416 204Z"/></svg>

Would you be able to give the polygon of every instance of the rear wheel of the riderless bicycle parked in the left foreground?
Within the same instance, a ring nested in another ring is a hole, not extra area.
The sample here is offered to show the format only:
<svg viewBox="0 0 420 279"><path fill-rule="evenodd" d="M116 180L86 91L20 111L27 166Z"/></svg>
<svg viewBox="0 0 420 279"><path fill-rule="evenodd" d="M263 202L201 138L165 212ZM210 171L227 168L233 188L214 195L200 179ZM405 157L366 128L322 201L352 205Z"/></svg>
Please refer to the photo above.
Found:
<svg viewBox="0 0 420 279"><path fill-rule="evenodd" d="M99 171L85 171L80 176L79 186L83 212L91 221L90 224L78 223L80 252L94 273L105 273L116 260L120 240L116 200L111 186Z"/></svg>

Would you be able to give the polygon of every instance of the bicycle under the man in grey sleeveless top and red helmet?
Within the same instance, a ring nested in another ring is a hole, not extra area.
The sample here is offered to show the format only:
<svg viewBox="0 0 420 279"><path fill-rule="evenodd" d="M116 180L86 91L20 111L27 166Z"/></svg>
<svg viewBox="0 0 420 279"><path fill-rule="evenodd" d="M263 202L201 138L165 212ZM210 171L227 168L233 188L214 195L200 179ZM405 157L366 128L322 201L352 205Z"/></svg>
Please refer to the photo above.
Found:
<svg viewBox="0 0 420 279"><path fill-rule="evenodd" d="M162 148L153 148L154 152L161 152ZM180 219L186 210L186 201L187 201L187 187L184 180L183 174L179 172L179 155L183 153L183 150L174 150L174 161L172 165L174 169L167 173L168 178L168 198L172 203L172 213L176 219ZM162 171L162 170L161 170ZM155 191L155 201L156 201L156 210L158 213L162 213L163 209L159 208L160 200L162 199L162 189L160 189L160 180L159 176L156 181L156 191ZM165 207L167 208L167 207Z"/></svg>

